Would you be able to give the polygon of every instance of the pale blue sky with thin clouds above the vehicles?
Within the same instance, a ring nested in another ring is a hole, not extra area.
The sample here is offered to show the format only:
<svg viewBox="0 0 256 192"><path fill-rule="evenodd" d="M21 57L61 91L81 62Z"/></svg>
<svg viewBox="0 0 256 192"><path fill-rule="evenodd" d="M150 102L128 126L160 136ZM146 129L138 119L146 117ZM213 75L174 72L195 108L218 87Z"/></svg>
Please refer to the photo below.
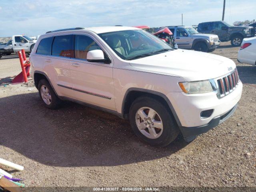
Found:
<svg viewBox="0 0 256 192"><path fill-rule="evenodd" d="M197 25L222 19L223 0L0 0L0 37L90 26ZM256 0L226 0L225 21L256 19Z"/></svg>

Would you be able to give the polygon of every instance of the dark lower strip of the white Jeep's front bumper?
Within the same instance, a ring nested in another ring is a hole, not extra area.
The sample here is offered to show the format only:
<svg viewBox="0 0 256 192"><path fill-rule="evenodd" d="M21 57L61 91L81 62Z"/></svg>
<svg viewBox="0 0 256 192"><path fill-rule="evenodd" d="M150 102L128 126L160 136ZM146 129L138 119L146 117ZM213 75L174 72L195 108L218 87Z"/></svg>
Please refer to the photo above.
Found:
<svg viewBox="0 0 256 192"><path fill-rule="evenodd" d="M231 110L222 114L221 116L217 116L213 118L208 124L198 127L180 127L180 132L182 133L184 140L186 142L190 142L194 140L198 135L202 133L208 132L210 129L218 126L219 124L226 121L230 118L234 112L236 111L238 104L236 104Z"/></svg>

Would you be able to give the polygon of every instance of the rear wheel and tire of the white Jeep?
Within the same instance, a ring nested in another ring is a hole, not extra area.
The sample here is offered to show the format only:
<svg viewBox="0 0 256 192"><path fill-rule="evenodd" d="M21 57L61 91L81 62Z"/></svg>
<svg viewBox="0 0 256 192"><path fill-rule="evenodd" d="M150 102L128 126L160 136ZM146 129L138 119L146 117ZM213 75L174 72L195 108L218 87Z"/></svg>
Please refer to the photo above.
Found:
<svg viewBox="0 0 256 192"><path fill-rule="evenodd" d="M54 90L52 89L52 86L50 86L47 80L41 79L39 81L38 91L39 91L39 96L46 108L56 109L60 106L61 101L58 98L58 96L55 94Z"/></svg>

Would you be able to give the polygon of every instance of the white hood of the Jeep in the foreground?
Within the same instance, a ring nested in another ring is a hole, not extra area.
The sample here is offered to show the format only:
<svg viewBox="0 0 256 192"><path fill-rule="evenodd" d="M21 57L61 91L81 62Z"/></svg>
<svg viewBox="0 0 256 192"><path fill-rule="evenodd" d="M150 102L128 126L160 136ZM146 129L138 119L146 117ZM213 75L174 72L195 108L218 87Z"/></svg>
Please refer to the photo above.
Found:
<svg viewBox="0 0 256 192"><path fill-rule="evenodd" d="M186 81L218 78L236 68L229 58L182 49L131 60L130 65L139 70L180 76Z"/></svg>

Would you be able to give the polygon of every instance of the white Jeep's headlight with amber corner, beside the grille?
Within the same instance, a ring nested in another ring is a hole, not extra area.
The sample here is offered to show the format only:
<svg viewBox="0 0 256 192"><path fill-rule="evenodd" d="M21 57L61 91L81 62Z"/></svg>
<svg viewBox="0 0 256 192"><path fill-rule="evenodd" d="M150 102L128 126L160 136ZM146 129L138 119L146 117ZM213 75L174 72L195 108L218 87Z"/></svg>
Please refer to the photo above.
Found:
<svg viewBox="0 0 256 192"><path fill-rule="evenodd" d="M180 82L179 85L182 91L188 94L213 92L212 85L209 80Z"/></svg>

